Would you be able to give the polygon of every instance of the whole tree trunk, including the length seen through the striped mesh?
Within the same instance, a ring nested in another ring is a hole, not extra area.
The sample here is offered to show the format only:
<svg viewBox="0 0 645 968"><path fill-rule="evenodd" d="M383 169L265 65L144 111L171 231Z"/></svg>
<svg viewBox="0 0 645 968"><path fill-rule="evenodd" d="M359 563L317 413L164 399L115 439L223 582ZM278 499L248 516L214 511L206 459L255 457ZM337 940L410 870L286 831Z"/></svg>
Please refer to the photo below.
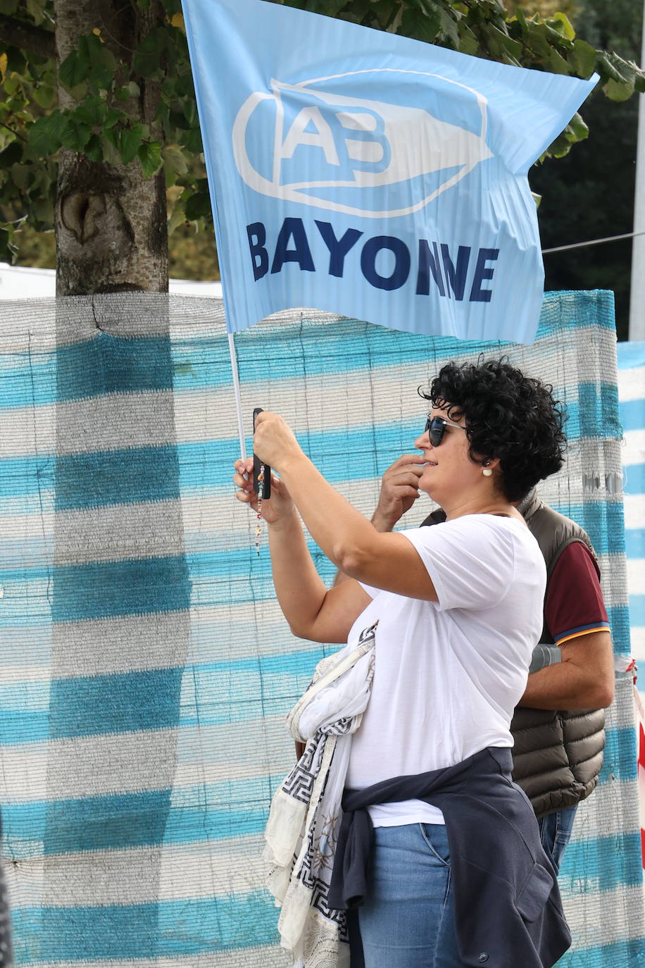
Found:
<svg viewBox="0 0 645 968"><path fill-rule="evenodd" d="M132 48L156 22L157 0L145 15L130 0L116 2L118 12L115 0L56 0L57 44L63 60L79 35L98 27L125 62L127 83ZM154 132L158 92L134 79L141 96L124 109ZM72 958L118 951L127 960L136 949L156 964L167 927L158 903L163 833L191 641L169 306L154 294L167 290L162 174L146 181L138 162L64 153L56 237L58 295L80 298L56 300L52 741L38 951L55 961L63 937ZM128 289L145 294L118 291ZM62 826L61 798L74 804ZM145 831L141 851L132 851L132 825ZM79 862L77 849L90 860ZM67 907L61 885L73 886ZM88 917L79 920L75 905Z"/></svg>

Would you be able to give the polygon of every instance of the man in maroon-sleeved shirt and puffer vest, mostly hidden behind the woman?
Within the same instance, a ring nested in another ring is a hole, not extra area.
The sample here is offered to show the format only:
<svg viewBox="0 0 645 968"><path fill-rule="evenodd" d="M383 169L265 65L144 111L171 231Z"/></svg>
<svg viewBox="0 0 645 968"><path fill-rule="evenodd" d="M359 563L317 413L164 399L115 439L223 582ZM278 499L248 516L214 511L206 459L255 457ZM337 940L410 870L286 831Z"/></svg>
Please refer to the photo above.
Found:
<svg viewBox="0 0 645 968"><path fill-rule="evenodd" d="M419 498L424 465L422 456L403 454L386 470L371 519L377 530L394 529ZM604 709L614 693L611 636L586 531L535 491L518 510L540 545L547 578L541 644L511 724L513 779L531 800L542 845L558 869L576 806L593 792L601 771ZM444 518L435 511L423 524Z"/></svg>

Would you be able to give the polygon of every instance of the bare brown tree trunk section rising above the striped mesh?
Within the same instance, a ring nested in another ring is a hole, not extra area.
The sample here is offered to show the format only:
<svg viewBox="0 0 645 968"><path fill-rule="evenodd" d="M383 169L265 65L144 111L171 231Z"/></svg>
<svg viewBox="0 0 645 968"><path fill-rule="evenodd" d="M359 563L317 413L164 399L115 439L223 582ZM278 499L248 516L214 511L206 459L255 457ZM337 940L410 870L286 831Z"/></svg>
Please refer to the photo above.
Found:
<svg viewBox="0 0 645 968"><path fill-rule="evenodd" d="M132 79L132 50L150 27L162 22L161 5L152 0L139 11L123 0L55 0L59 64L78 38L101 31L103 43L124 63ZM154 135L158 85L136 78L138 98L124 109L132 123L147 124ZM59 84L61 107L75 105ZM137 160L130 165L92 162L73 151L61 152L56 214L56 294L168 288L168 242L163 172L145 179Z"/></svg>

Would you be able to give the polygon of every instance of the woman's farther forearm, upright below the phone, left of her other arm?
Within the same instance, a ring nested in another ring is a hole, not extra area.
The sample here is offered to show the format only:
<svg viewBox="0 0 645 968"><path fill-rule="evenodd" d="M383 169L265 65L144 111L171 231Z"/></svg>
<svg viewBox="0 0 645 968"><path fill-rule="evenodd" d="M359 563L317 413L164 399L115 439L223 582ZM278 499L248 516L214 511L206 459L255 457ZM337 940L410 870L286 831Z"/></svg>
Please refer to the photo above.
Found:
<svg viewBox="0 0 645 968"><path fill-rule="evenodd" d="M298 514L294 511L269 525L269 549L280 609L294 635L308 638L327 589L309 555Z"/></svg>

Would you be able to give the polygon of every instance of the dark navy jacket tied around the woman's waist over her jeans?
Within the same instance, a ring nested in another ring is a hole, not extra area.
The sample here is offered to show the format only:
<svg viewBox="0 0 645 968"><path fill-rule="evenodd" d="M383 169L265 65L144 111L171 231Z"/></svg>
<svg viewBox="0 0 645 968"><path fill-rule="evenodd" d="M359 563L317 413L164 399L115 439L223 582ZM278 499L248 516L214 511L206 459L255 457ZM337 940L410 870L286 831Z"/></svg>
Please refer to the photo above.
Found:
<svg viewBox="0 0 645 968"><path fill-rule="evenodd" d="M347 910L365 899L373 833L366 807L424 800L446 821L464 964L551 968L572 937L533 808L513 784L512 768L511 750L490 746L454 767L345 790L330 907Z"/></svg>

